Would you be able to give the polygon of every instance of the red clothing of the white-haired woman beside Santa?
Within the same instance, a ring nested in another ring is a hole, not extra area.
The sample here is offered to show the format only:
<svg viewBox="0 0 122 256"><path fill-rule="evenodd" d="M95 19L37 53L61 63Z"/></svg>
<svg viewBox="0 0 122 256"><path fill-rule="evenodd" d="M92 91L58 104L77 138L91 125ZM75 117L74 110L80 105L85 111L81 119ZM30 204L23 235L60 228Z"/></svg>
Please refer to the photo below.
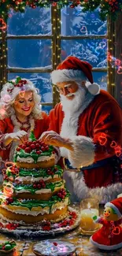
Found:
<svg viewBox="0 0 122 256"><path fill-rule="evenodd" d="M49 127L49 121L50 119L45 112L42 112L42 119L35 120L34 134L36 139L39 139L42 133L47 131ZM0 132L2 134L13 132L13 128L13 122L10 118L0 120ZM6 148L6 150L0 150L0 157L2 158L2 161L9 160L9 152L10 147Z"/></svg>

